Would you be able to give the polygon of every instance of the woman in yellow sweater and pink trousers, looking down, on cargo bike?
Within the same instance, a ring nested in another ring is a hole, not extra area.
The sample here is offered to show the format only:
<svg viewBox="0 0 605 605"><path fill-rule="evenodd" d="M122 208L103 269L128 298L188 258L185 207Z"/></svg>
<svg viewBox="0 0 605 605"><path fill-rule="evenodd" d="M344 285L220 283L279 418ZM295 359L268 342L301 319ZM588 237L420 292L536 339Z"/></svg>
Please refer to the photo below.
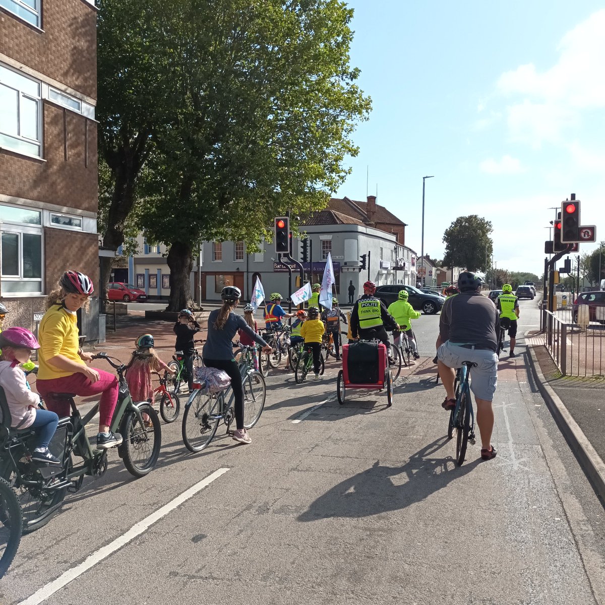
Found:
<svg viewBox="0 0 605 605"><path fill-rule="evenodd" d="M90 353L78 344L76 312L88 302L93 283L78 271L66 271L59 287L47 298L47 312L38 329L39 369L36 387L49 410L59 417L69 416L70 408L54 393L75 393L81 396L100 394L99 434L97 448L111 448L122 443L119 433L110 431L111 416L116 408L118 382L114 374L88 367Z"/></svg>

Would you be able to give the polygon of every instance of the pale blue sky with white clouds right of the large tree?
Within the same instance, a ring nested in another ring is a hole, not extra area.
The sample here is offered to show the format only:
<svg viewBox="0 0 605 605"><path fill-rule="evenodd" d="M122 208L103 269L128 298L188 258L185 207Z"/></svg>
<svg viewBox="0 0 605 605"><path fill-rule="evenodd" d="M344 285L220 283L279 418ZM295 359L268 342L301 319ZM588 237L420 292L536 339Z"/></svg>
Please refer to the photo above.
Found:
<svg viewBox="0 0 605 605"><path fill-rule="evenodd" d="M540 275L552 206L572 192L605 239L603 2L351 0L351 59L373 100L336 197L369 193L442 258L461 215L492 221L494 261ZM580 246L591 252L595 244Z"/></svg>

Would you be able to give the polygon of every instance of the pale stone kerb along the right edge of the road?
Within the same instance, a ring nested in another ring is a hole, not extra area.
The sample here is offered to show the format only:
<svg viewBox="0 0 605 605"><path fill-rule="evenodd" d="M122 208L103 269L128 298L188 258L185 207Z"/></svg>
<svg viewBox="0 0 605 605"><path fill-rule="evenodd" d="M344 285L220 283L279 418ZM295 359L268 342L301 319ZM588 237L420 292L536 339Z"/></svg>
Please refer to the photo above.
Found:
<svg viewBox="0 0 605 605"><path fill-rule="evenodd" d="M597 451L587 439L584 431L575 422L560 397L555 393L551 385L546 382L544 374L540 370L540 364L538 364L534 347L529 346L528 352L536 384L546 405L548 405L555 422L557 422L558 427L561 429L561 433L563 433L571 450L583 467L584 473L586 473L590 483L592 483L595 492L600 497L601 503L605 504L605 462L597 454Z"/></svg>

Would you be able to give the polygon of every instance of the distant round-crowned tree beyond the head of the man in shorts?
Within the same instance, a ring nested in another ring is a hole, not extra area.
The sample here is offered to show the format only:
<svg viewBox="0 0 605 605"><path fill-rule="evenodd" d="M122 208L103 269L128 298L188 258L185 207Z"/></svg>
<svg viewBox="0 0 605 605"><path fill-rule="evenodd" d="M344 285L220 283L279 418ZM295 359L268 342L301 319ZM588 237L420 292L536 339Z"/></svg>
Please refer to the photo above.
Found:
<svg viewBox="0 0 605 605"><path fill-rule="evenodd" d="M491 222L476 214L458 217L443 234L443 263L448 267L485 272L488 269L486 258L489 263L492 255L492 240L489 237L492 231Z"/></svg>

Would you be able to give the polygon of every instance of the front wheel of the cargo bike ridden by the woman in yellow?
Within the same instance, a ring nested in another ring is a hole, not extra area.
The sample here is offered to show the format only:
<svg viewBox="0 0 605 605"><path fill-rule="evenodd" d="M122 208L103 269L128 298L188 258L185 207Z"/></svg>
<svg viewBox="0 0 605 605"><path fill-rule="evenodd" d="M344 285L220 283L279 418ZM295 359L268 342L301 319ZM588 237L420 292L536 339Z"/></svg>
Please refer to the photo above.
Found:
<svg viewBox="0 0 605 605"><path fill-rule="evenodd" d="M134 411L126 413L122 420L122 459L128 472L135 477L145 477L153 470L162 447L162 427L157 412L151 404L137 405L143 422ZM145 417L145 414L148 417Z"/></svg>

